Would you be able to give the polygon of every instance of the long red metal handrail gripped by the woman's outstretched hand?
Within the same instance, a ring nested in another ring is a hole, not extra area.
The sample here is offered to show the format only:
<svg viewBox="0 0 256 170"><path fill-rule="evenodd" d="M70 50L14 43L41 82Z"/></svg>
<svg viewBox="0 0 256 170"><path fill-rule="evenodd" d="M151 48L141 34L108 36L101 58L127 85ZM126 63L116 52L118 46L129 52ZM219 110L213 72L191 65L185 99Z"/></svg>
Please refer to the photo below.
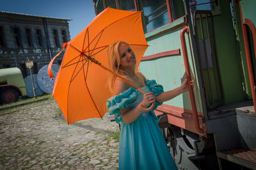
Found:
<svg viewBox="0 0 256 170"><path fill-rule="evenodd" d="M191 73L190 73L190 69L189 69L188 50L187 50L187 46L186 46L185 33L187 33L187 34L189 33L188 26L185 26L181 30L180 41L181 41L184 64L185 64L185 69L186 69L186 76L188 78L188 84L189 84L191 81ZM196 130L198 132L200 132L201 134L205 134L205 127L203 126L201 128L199 125L198 114L197 114L197 110L196 110L195 93L194 93L193 87L190 84L188 85L188 90L189 90L189 97L190 97L190 102L191 102L191 107L192 107L193 120L195 123Z"/></svg>

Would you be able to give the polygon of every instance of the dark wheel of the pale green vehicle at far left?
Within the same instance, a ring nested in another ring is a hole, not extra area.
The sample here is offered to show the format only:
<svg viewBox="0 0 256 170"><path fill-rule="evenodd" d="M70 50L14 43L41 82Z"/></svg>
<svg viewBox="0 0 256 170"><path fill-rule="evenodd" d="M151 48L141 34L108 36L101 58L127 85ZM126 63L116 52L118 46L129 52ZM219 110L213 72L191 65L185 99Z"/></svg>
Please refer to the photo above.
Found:
<svg viewBox="0 0 256 170"><path fill-rule="evenodd" d="M15 89L7 88L1 93L1 103L8 104L16 102L19 99L19 95Z"/></svg>

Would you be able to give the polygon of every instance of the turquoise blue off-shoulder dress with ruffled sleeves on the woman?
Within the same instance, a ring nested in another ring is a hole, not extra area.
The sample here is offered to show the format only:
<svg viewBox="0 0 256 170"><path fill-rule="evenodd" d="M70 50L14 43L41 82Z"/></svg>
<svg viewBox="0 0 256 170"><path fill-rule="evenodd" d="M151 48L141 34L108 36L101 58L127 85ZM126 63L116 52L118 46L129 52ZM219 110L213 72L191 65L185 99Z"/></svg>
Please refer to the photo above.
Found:
<svg viewBox="0 0 256 170"><path fill-rule="evenodd" d="M156 81L145 81L145 84L147 86L141 88L144 91L152 91L155 96L163 93L163 86L156 84ZM120 109L132 109L142 100L143 95L136 88L129 88L107 101L109 114L118 116L116 123L121 125L119 169L177 169L158 127L158 118L154 111L142 112L129 124L122 120ZM158 105L161 104L156 102L156 107Z"/></svg>

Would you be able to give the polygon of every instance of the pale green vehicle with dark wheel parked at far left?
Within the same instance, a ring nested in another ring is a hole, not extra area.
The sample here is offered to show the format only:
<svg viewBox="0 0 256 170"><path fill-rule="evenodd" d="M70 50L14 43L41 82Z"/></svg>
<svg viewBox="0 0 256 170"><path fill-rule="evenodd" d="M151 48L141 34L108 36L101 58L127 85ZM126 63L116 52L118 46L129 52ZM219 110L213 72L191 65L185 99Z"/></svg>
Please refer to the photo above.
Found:
<svg viewBox="0 0 256 170"><path fill-rule="evenodd" d="M26 95L26 85L20 69L17 67L0 69L1 104L16 102L19 97Z"/></svg>

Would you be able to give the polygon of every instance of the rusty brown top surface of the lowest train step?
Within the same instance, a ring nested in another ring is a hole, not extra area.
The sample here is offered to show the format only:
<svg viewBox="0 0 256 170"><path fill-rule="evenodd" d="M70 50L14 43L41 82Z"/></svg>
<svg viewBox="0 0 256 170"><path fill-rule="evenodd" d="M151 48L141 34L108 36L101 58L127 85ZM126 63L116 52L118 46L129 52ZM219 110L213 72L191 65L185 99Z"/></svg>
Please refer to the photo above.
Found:
<svg viewBox="0 0 256 170"><path fill-rule="evenodd" d="M256 151L246 150L246 149L236 149L236 150L227 150L221 151L226 155L231 155L233 157L241 158L243 160L247 160L248 162L252 162L256 164Z"/></svg>

